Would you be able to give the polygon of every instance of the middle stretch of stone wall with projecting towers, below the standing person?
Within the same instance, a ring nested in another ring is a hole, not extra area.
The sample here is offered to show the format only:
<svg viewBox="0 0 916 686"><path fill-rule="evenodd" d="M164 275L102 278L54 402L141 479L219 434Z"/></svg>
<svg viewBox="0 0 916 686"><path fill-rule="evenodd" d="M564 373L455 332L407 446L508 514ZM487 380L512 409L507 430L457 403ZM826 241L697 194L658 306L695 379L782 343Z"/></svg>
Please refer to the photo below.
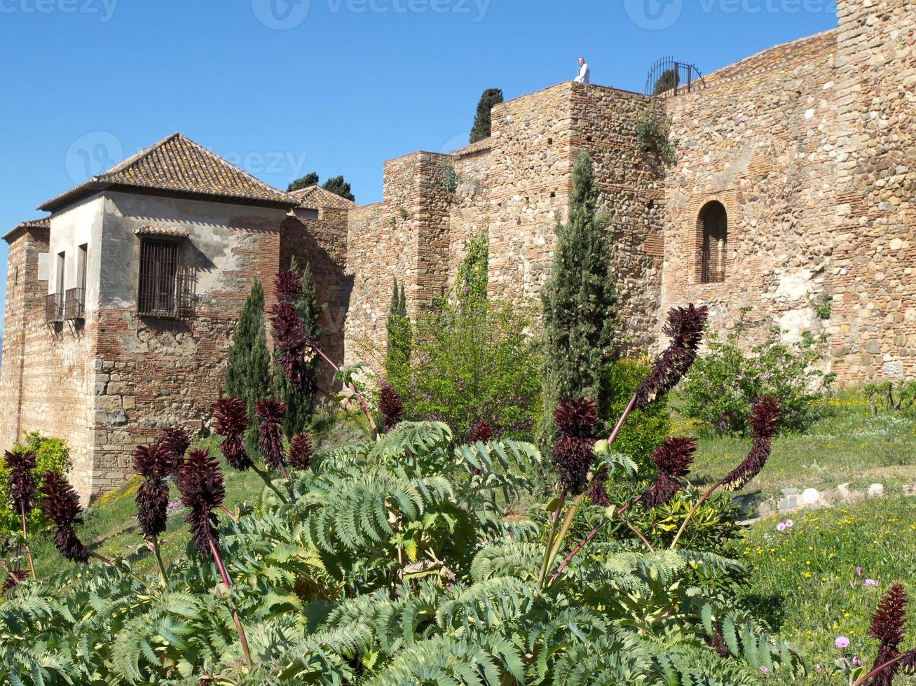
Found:
<svg viewBox="0 0 916 686"><path fill-rule="evenodd" d="M467 241L481 232L490 245L491 294L540 304L580 147L594 159L612 220L621 327L627 345L643 349L657 328L664 200L658 161L636 140L638 119L649 108L659 105L635 93L562 83L497 105L487 141L451 155L387 162L383 202L350 211L347 359L384 351L396 277L407 284L409 311L416 313L453 283ZM454 189L444 184L449 166ZM627 166L632 170L622 173Z"/></svg>

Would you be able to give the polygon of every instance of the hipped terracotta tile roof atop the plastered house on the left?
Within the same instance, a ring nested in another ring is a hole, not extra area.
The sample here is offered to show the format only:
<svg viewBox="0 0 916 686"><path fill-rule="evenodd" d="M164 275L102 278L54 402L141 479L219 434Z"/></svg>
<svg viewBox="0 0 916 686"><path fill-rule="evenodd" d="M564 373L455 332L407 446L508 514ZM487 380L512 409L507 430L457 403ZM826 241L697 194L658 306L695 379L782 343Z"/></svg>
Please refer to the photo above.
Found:
<svg viewBox="0 0 916 686"><path fill-rule="evenodd" d="M171 134L119 165L39 207L54 211L104 188L144 188L169 194L234 198L295 207L297 201L181 134Z"/></svg>

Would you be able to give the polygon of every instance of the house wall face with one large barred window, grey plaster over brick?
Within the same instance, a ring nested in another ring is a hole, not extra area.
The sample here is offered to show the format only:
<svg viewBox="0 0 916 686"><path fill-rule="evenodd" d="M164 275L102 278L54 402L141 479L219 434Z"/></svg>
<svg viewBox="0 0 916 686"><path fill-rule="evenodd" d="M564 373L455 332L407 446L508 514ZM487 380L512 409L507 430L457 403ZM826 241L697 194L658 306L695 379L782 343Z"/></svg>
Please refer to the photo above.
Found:
<svg viewBox="0 0 916 686"><path fill-rule="evenodd" d="M226 203L108 196L102 257L123 268L104 272L100 286L89 495L124 482L136 445L157 439L166 427L183 424L195 432L210 420L236 317L254 279L264 284L268 311L274 302L285 216ZM189 234L180 260L192 284L192 311L181 319L136 313L135 230L147 226Z"/></svg>

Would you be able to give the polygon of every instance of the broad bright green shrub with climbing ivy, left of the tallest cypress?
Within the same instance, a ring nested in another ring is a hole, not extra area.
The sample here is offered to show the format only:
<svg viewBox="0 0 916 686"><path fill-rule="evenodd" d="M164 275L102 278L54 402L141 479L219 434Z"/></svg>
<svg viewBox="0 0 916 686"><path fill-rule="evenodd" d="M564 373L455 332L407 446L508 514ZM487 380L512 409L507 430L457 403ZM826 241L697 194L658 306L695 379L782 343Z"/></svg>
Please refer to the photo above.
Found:
<svg viewBox="0 0 916 686"><path fill-rule="evenodd" d="M448 423L461 440L481 420L529 438L540 390L531 317L487 298L487 262L486 237L470 241L453 290L414 324L409 373L389 381L408 416Z"/></svg>

